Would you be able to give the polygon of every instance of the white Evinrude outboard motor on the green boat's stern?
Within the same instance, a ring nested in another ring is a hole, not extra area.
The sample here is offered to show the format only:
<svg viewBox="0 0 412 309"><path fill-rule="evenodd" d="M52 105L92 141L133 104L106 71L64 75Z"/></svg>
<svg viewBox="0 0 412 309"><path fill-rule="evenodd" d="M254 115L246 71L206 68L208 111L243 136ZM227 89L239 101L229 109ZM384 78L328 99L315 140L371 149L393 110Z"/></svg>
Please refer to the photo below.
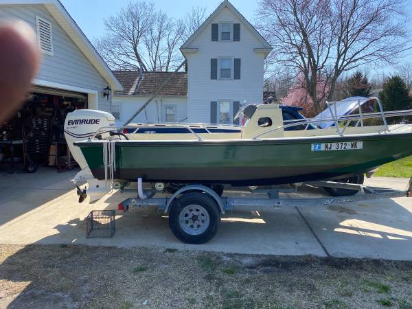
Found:
<svg viewBox="0 0 412 309"><path fill-rule="evenodd" d="M104 111L78 109L72 113L68 113L65 120L65 138L67 146L69 147L73 159L76 160L82 169L74 177L73 183L76 184L77 181L87 181L89 183L87 194L90 196L90 201L95 201L106 193L105 182L98 181L93 177L82 151L79 147L74 146L74 143L93 137L93 135L95 135L95 133L102 127L107 127L107 129L103 130L104 133L102 132L102 138L108 137L112 127L113 130L116 130L115 117ZM86 190L80 190L78 187L80 203L84 201L87 194Z"/></svg>

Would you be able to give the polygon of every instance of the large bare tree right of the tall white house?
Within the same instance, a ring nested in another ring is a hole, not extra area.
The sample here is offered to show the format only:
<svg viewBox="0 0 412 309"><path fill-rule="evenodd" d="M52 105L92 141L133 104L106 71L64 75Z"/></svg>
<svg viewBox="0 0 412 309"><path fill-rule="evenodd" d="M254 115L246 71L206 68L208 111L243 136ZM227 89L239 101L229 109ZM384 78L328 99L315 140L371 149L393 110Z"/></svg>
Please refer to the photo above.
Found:
<svg viewBox="0 0 412 309"><path fill-rule="evenodd" d="M258 27L272 43L276 61L303 74L317 113L323 100L332 99L342 73L391 63L404 49L404 0L260 0L259 4Z"/></svg>

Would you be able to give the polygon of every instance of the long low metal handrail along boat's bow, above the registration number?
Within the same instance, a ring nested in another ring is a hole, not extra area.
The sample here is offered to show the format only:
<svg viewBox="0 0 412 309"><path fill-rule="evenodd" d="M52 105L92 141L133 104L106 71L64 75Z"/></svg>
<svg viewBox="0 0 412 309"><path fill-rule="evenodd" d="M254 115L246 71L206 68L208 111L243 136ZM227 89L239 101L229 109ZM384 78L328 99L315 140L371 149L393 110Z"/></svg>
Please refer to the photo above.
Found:
<svg viewBox="0 0 412 309"><path fill-rule="evenodd" d="M266 135L267 133L271 133L275 130L280 130L280 129L284 129L284 128L290 128L293 126L301 126L306 124L306 128L308 127L308 125L310 124L314 124L317 125L319 124L319 122L336 122L337 123L337 129L338 130L338 134L343 136L343 133L345 132L346 128L349 126L350 122L352 120L356 120L359 119L362 121L363 124L363 120L364 119L385 119L384 120L384 126L385 126L385 132L389 132L389 127L387 126L387 121L386 121L386 117L399 117L399 116L407 116L407 115L412 115L412 109L405 109L402 111L388 111L388 112L374 112L374 113L362 113L362 114L354 114L354 115L345 115L342 117L327 117L327 118L321 118L321 119L291 119L291 120L285 120L284 123L286 122L291 122L290 124L283 124L282 126L277 126L276 128L271 128L269 130L266 130L262 133L259 133L258 135L255 135L252 137L252 139L258 139L259 137L261 137L262 135ZM347 124L345 124L345 126L343 127L343 129L341 130L341 128L339 128L339 122L345 122L347 121ZM336 126L336 124L335 124ZM356 126L358 126L358 124L356 124ZM305 128L305 130L306 130Z"/></svg>

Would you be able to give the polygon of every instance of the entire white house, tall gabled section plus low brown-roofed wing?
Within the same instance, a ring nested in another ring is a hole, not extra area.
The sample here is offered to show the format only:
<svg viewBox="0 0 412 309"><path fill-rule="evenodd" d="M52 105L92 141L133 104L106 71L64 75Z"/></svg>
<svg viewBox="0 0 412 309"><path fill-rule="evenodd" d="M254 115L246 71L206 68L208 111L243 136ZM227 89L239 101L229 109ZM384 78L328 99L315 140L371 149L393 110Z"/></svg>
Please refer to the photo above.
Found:
<svg viewBox="0 0 412 309"><path fill-rule="evenodd" d="M177 73L135 122L231 124L240 104L262 102L264 58L271 49L249 21L223 1L181 47L187 75ZM135 71L114 73L124 87L115 92L112 102L119 124L170 74L143 73L139 80Z"/></svg>

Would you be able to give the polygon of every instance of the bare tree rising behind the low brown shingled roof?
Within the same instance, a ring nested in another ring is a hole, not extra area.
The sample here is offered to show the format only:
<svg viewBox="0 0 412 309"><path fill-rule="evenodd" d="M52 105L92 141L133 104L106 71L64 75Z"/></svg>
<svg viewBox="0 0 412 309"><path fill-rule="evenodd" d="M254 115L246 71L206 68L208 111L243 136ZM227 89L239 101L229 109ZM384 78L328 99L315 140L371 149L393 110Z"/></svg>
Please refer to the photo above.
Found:
<svg viewBox="0 0 412 309"><path fill-rule="evenodd" d="M95 46L112 69L172 71L183 61L179 47L185 25L151 2L129 2L104 25Z"/></svg>

